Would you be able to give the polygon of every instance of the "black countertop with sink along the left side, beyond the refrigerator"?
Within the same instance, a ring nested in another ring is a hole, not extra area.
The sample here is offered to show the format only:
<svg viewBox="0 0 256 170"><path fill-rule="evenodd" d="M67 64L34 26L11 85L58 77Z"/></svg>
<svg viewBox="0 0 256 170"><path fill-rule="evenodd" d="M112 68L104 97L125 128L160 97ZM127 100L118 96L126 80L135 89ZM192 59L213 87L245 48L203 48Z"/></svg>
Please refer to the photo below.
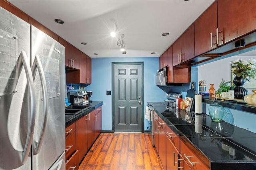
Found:
<svg viewBox="0 0 256 170"><path fill-rule="evenodd" d="M68 126L74 123L79 118L83 117L84 115L87 115L94 109L100 107L101 105L103 105L103 101L93 101L92 103L89 103L89 104L90 104L89 107L86 107L85 109L78 111L78 113L76 113L75 115L65 115L65 125Z"/></svg>

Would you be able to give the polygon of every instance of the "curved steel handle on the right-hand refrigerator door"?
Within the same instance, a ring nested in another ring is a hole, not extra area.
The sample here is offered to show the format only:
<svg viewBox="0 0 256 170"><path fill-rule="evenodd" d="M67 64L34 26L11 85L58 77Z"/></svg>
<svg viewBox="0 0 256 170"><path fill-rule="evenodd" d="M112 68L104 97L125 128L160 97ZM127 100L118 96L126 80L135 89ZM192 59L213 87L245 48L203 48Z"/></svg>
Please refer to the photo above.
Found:
<svg viewBox="0 0 256 170"><path fill-rule="evenodd" d="M42 63L40 61L40 58L38 55L36 55L34 59L34 63L32 66L32 73L33 73L33 79L35 79L36 76L36 68L38 69L39 77L40 77L40 82L42 86L42 97L43 97L43 119L42 119L42 128L40 130L40 135L39 139L35 148L36 154L40 152L43 139L44 139L44 134L45 134L45 129L46 129L46 120L47 120L47 113L48 113L48 94L47 94L47 85L46 85L46 80L45 80L45 75L44 75L44 69L42 66Z"/></svg>

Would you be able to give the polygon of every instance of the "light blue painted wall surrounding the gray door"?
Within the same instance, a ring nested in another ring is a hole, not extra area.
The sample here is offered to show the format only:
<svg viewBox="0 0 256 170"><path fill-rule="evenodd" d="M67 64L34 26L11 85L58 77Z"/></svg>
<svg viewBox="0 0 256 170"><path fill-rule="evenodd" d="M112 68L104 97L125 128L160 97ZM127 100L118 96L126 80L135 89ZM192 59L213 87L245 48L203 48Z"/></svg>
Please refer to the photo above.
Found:
<svg viewBox="0 0 256 170"><path fill-rule="evenodd" d="M92 84L86 87L86 91L92 91L90 100L104 102L102 130L112 130L112 62L144 62L144 111L148 101L166 100L166 93L156 86L158 57L92 58ZM111 95L106 95L106 91L111 91Z"/></svg>

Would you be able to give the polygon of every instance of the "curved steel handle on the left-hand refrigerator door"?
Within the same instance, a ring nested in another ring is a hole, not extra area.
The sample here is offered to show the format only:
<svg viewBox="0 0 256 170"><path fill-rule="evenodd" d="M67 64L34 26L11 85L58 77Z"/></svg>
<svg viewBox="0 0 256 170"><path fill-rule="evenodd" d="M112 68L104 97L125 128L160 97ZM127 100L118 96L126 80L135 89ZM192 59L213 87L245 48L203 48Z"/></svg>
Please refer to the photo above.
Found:
<svg viewBox="0 0 256 170"><path fill-rule="evenodd" d="M27 84L28 84L28 91L30 94L30 98L29 98L29 100L30 100L30 106L29 106L30 123L28 125L28 134L26 137L26 143L25 143L23 154L22 154L22 164L25 164L26 160L28 159L28 156L30 153L30 147L31 147L32 141L33 141L34 126L35 126L36 100L35 100L35 87L34 87L32 71L30 69L30 64L29 64L26 52L21 51L19 57L21 57L22 64L24 66L24 70L25 70L26 78L27 78Z"/></svg>

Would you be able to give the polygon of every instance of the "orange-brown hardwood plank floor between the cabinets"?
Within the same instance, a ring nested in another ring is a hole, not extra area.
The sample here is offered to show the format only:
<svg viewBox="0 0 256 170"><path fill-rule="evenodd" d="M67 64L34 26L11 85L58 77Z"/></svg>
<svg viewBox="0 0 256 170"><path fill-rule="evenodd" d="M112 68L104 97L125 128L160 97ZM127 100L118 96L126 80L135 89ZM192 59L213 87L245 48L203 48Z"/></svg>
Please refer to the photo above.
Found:
<svg viewBox="0 0 256 170"><path fill-rule="evenodd" d="M162 170L146 133L101 133L79 170Z"/></svg>

